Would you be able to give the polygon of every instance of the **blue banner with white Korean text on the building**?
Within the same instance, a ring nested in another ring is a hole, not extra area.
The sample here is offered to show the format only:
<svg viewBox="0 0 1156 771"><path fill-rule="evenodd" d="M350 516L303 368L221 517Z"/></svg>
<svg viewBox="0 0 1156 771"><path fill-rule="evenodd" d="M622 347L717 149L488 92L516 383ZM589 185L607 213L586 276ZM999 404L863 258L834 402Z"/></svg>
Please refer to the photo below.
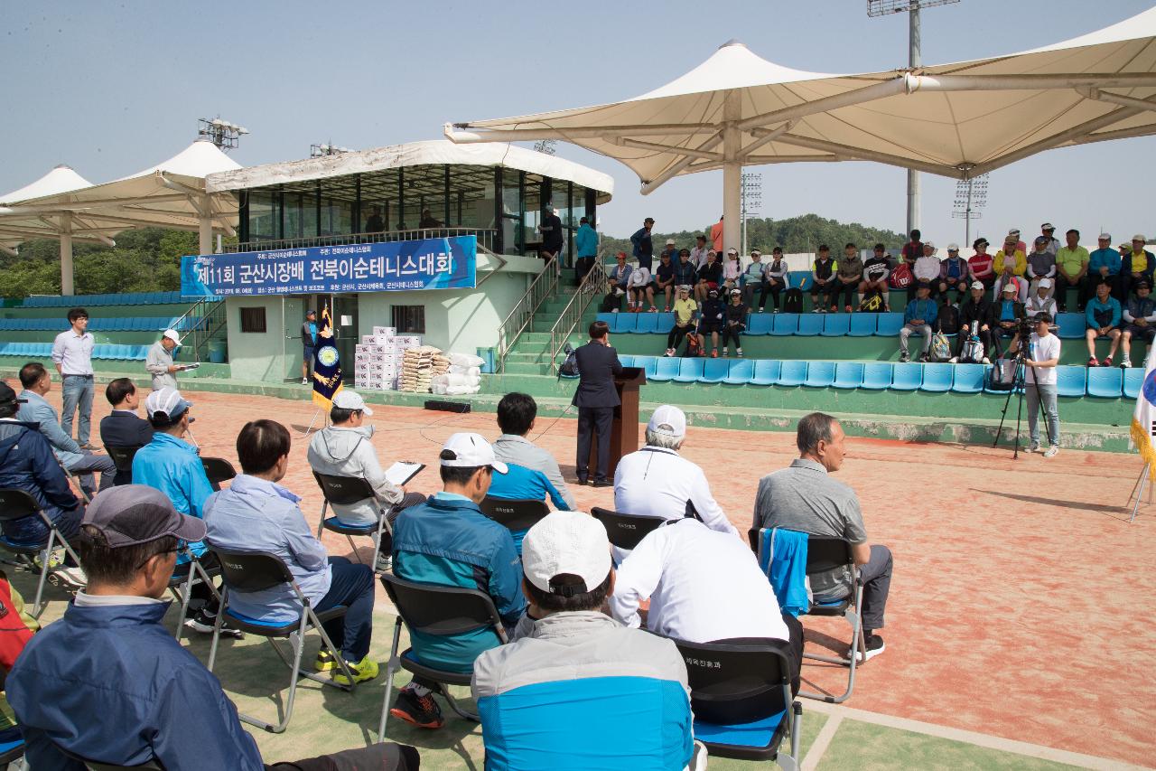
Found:
<svg viewBox="0 0 1156 771"><path fill-rule="evenodd" d="M351 243L180 258L180 294L249 296L316 292L468 289L477 236Z"/></svg>

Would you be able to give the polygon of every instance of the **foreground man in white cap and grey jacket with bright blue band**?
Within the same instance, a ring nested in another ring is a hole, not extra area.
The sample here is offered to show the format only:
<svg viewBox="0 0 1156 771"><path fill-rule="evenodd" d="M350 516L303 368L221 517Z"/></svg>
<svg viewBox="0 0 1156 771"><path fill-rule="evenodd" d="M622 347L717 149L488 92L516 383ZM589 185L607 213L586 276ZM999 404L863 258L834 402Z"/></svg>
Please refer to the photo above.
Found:
<svg viewBox="0 0 1156 771"><path fill-rule="evenodd" d="M602 523L580 512L548 515L526 534L523 571L529 607L513 641L474 663L487 768L687 766L695 749L686 663L670 640L601 611L615 586Z"/></svg>

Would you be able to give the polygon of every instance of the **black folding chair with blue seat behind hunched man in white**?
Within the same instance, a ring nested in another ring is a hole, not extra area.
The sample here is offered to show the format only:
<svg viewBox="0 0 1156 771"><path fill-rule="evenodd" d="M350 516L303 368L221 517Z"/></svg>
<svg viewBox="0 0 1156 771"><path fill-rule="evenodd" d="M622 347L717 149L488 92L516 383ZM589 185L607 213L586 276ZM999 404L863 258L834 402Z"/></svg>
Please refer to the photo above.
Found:
<svg viewBox="0 0 1156 771"><path fill-rule="evenodd" d="M799 768L802 705L791 698L787 644L674 640L687 662L695 739L713 757L777 761L784 771ZM751 720L751 705L763 717ZM780 752L791 734L791 754Z"/></svg>

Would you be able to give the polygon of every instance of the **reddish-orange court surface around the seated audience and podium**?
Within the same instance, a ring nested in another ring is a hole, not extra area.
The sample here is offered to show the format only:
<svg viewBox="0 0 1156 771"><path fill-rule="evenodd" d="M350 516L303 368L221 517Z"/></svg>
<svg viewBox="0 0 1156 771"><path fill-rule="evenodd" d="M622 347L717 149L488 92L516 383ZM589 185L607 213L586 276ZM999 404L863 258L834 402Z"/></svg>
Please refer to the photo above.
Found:
<svg viewBox="0 0 1156 771"><path fill-rule="evenodd" d="M236 465L245 420L266 417L297 431L311 404L271 397L191 394L202 455ZM50 395L59 405L59 391ZM818 406L818 405L816 405ZM98 419L109 407L97 395ZM375 407L384 464L435 465L455 431L499 432L492 413ZM539 420L533 439L572 478L576 424ZM642 434L642 426L639 426ZM317 522L321 495L294 440L283 480ZM1052 460L1009 449L849 439L838 479L854 487L867 530L891 548L895 574L882 631L887 652L859 669L846 703L860 710L1148 765L1156 757L1156 506L1127 523L1136 455L1064 450ZM682 453L701 464L742 533L759 477L796 456L794 434L691 427ZM412 490L438 489L427 469ZM572 487L585 511L613 507L610 489ZM1146 495L1147 498L1147 495ZM326 534L331 553L348 552ZM379 602L385 602L378 589ZM845 649L842 619L805 619L808 649ZM838 642L836 642L838 641ZM806 666L812 686L842 692L846 670ZM803 699L806 708L808 702Z"/></svg>

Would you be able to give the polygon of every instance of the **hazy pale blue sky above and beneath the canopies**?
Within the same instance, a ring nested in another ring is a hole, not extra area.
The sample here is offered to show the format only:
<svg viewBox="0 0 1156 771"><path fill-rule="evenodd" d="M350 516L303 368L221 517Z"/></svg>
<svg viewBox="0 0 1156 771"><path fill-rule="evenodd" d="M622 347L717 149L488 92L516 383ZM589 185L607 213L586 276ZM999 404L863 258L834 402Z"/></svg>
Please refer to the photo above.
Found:
<svg viewBox="0 0 1156 771"><path fill-rule="evenodd" d="M1020 51L1106 27L1151 0L962 0L925 9L926 64ZM313 142L369 148L442 135L447 120L524 115L651 90L738 38L799 69L872 72L906 65L905 15L868 19L862 0L704 5L462 0L440 2L7 2L6 144L0 191L57 163L92 182L151 166L195 135L197 118L252 131L234 150L250 166L304 157ZM1052 150L991 176L978 233L1051 220L1090 243L1153 235L1156 138ZM702 227L721 211L721 172L680 177L643 197L625 167L561 145L614 176L601 227L625 235ZM873 163L762 167L761 214L815 212L902 230L904 171ZM963 240L955 183L922 175L922 229Z"/></svg>

